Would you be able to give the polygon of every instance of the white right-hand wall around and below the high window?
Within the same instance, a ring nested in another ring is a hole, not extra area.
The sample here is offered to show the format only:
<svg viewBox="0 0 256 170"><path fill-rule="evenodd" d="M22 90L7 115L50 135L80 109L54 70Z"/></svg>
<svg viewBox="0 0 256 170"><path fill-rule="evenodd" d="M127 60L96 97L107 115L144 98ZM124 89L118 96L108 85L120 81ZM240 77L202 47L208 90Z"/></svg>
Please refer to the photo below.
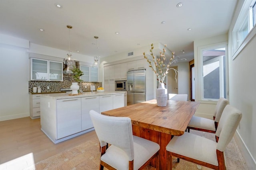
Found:
<svg viewBox="0 0 256 170"><path fill-rule="evenodd" d="M237 57L232 60L232 29L242 7L238 7L229 30L229 89L230 104L242 111L242 120L235 136L238 147L247 162L248 169L256 169L256 35L247 43ZM255 26L254 26L255 27ZM255 29L255 28L254 28Z"/></svg>

